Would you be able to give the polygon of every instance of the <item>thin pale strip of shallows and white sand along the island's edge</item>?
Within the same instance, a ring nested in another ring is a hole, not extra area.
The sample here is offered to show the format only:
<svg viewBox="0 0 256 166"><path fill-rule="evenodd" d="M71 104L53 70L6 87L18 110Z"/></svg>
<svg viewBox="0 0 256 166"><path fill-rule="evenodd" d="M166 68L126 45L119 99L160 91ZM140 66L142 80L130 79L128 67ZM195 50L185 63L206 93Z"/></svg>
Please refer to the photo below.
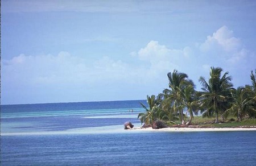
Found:
<svg viewBox="0 0 256 166"><path fill-rule="evenodd" d="M142 128L141 123L135 123L135 127L125 130L123 125L82 127L63 131L31 131L31 132L1 132L1 136L24 136L24 135L74 135L74 134L133 134L144 132L218 132L218 131L256 131L256 126L249 127L166 127L153 129L152 127Z"/></svg>

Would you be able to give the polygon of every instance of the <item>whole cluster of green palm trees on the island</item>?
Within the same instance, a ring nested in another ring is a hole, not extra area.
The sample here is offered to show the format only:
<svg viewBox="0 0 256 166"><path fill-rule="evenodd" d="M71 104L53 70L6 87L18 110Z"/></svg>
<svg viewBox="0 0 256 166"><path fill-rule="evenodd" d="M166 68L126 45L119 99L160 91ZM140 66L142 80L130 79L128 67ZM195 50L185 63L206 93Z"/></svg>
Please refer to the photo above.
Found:
<svg viewBox="0 0 256 166"><path fill-rule="evenodd" d="M244 118L256 118L256 70L251 71L252 85L233 88L232 77L228 72L221 74L222 68L210 68L209 80L199 78L201 91L195 90L195 84L185 73L177 70L167 74L169 89L164 89L158 96L147 96L148 107L139 113L142 123L152 124L156 120L191 124L193 115L199 112L203 117L216 117L215 122L223 121L228 115L235 115L238 121ZM184 114L186 113L186 114ZM185 122L184 117L189 117Z"/></svg>

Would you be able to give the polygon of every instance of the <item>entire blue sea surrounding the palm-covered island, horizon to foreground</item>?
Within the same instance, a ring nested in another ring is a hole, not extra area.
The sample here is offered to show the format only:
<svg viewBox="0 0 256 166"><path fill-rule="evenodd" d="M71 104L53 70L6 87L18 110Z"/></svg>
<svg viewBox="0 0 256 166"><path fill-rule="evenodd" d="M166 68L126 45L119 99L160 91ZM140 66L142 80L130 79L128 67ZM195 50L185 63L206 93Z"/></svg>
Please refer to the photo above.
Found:
<svg viewBox="0 0 256 166"><path fill-rule="evenodd" d="M255 131L124 130L139 102L1 105L1 165L256 165Z"/></svg>

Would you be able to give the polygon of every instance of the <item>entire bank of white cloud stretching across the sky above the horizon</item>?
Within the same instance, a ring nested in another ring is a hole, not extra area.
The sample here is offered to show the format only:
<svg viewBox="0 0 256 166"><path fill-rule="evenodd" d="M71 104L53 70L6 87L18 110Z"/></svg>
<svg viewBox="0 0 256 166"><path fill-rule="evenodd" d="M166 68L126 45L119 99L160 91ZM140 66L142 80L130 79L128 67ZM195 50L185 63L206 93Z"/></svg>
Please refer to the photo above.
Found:
<svg viewBox="0 0 256 166"><path fill-rule="evenodd" d="M104 101L116 100L117 96L143 99L147 94L168 88L167 73L174 69L187 73L200 90L197 80L199 76L208 78L212 66L229 71L235 88L250 84L250 70L255 69L250 61L254 52L247 50L226 26L207 36L203 43L195 41L182 49L168 47L151 40L141 49L127 52L136 63L105 55L88 59L86 55L75 56L64 51L57 55L20 54L3 59L1 100L9 104ZM213 59L217 61L213 63ZM239 69L241 73L236 72ZM95 94L96 91L101 93ZM138 93L141 96L134 96Z"/></svg>

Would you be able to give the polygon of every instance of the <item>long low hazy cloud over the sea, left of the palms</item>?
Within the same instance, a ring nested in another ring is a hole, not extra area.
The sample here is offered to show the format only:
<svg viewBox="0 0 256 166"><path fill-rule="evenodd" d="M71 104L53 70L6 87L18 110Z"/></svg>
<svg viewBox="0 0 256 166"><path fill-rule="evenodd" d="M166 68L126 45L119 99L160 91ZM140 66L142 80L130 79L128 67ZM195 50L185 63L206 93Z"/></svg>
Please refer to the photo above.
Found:
<svg viewBox="0 0 256 166"><path fill-rule="evenodd" d="M60 52L56 56L19 55L11 60L3 60L3 76L8 75L5 81L15 82L19 79L22 83L24 78L29 79L28 82L31 84L44 85L95 84L103 78L121 79L127 68L129 68L127 64L121 60L114 61L108 56L98 60L88 60L72 56L68 52Z"/></svg>

